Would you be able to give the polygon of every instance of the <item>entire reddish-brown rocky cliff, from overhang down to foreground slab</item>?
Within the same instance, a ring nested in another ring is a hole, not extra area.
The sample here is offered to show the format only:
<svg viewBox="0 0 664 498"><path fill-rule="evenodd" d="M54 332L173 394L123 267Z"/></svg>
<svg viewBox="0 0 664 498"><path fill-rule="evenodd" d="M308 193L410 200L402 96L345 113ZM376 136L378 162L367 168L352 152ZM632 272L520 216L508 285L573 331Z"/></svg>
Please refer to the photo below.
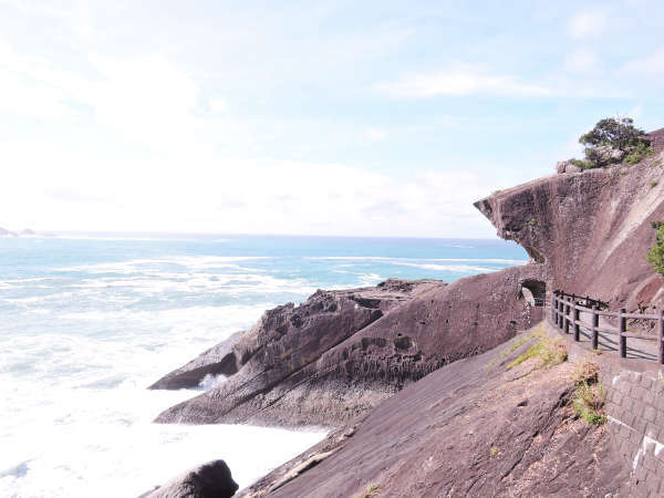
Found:
<svg viewBox="0 0 664 498"><path fill-rule="evenodd" d="M251 496L629 495L606 430L570 411L571 366L509 370L522 343L500 344L541 320L533 304L556 288L631 310L664 305L664 279L645 260L651 221L664 220L664 131L651 138L655 155L641 164L476 203L528 264L450 284L319 291L270 310L158 381L228 375L157 421L341 427Z"/></svg>

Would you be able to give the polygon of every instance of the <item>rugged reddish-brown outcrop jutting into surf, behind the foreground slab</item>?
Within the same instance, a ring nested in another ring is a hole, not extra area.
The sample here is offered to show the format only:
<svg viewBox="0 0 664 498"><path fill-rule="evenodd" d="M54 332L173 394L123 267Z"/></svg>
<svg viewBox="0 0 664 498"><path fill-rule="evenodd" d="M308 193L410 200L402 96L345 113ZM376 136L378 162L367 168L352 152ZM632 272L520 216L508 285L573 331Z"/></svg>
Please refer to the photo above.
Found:
<svg viewBox="0 0 664 498"><path fill-rule="evenodd" d="M234 343L237 373L156 422L339 426L442 365L539 321L541 309L520 292L538 271L530 264L450 284L387 280L278 307Z"/></svg>

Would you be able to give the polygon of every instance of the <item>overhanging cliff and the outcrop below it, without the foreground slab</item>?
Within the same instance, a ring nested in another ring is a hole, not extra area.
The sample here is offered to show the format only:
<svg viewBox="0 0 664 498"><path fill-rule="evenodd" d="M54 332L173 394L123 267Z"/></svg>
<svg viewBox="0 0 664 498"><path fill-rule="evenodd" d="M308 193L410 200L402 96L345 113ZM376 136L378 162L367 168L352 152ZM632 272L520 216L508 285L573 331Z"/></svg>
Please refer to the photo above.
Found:
<svg viewBox="0 0 664 498"><path fill-rule="evenodd" d="M319 291L299 307L267 311L251 330L155 383L177 388L206 374L228 376L157 422L338 426L528 328L541 317L528 298L551 289L631 310L661 307L664 279L645 259L650 222L664 220L664 134L652 137L656 154L639 165L552 175L476 203L500 237L526 248L528 264L450 284L388 280Z"/></svg>

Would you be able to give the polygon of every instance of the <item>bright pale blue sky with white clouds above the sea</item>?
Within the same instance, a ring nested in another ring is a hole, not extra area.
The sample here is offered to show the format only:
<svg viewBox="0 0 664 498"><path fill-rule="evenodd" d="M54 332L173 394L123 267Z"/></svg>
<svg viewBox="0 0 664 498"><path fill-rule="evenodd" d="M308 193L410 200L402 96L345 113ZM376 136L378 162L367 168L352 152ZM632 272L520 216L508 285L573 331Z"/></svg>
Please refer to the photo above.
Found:
<svg viewBox="0 0 664 498"><path fill-rule="evenodd" d="M495 236L473 203L664 127L664 2L0 0L0 227Z"/></svg>

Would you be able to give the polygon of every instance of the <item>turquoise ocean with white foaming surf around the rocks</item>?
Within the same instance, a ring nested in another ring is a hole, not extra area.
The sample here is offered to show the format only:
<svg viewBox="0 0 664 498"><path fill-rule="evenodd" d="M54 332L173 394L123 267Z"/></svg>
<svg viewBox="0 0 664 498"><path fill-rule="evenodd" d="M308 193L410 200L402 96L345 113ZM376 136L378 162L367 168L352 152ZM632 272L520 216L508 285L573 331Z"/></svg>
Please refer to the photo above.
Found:
<svg viewBox="0 0 664 498"><path fill-rule="evenodd" d="M0 496L135 497L216 458L248 486L324 430L156 425L160 411L211 383L146 387L317 289L390 277L449 282L527 259L502 240L0 239Z"/></svg>

